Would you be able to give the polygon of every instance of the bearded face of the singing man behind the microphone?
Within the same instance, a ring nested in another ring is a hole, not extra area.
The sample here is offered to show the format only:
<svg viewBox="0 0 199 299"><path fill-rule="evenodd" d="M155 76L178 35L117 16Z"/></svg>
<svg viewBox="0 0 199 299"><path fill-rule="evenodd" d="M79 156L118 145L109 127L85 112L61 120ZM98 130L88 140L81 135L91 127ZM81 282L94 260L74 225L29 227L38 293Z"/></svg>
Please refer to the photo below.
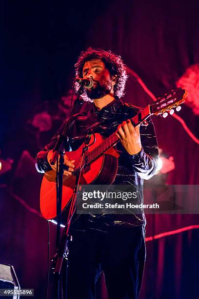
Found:
<svg viewBox="0 0 199 299"><path fill-rule="evenodd" d="M109 70L101 60L94 59L85 62L82 72L83 79L90 78L94 81L93 87L86 88L86 93L90 99L100 99L111 92L114 84Z"/></svg>

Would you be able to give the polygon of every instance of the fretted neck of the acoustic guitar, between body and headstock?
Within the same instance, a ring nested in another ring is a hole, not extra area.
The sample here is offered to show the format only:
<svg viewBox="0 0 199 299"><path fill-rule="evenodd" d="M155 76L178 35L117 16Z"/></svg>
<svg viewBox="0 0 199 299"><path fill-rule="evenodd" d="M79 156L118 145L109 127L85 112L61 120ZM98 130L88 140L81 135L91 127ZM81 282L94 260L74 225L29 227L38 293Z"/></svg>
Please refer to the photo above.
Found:
<svg viewBox="0 0 199 299"><path fill-rule="evenodd" d="M136 127L146 120L151 115L150 106L148 105L143 110L139 110L138 114L131 118L133 126ZM109 137L105 138L100 145L91 150L86 156L86 164L90 164L97 159L104 151L113 147L119 142L119 139L114 132Z"/></svg>

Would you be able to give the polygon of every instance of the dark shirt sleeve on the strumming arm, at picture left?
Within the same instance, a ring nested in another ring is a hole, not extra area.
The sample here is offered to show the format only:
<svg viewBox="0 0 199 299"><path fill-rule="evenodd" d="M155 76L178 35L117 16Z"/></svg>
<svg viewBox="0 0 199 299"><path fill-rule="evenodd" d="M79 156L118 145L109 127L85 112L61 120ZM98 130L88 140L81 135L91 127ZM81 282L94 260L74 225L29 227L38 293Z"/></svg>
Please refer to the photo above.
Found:
<svg viewBox="0 0 199 299"><path fill-rule="evenodd" d="M36 156L36 163L35 163L35 167L37 169L38 172L40 173L44 173L46 171L51 171L52 168L50 166L50 164L48 163L48 159L47 159L47 155L48 155L48 152L51 150L51 149L54 149L55 145L56 145L56 142L60 136L60 134L63 132L63 129L64 129L64 126L66 125L68 119L65 120L61 127L59 128L58 132L55 134L55 136L51 139L50 143L47 144L44 149L41 149L37 156Z"/></svg>

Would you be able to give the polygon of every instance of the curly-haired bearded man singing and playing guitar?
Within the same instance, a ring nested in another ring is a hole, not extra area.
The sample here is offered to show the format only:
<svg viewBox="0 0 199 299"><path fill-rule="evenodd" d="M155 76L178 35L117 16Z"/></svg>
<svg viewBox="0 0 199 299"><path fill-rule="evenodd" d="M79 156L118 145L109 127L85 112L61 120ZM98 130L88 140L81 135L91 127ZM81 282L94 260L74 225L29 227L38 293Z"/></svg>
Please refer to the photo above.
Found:
<svg viewBox="0 0 199 299"><path fill-rule="evenodd" d="M119 158L113 184L134 185L140 190L143 179L151 178L156 171L159 151L151 119L148 126L134 128L130 119L139 109L120 100L127 80L120 56L88 48L80 53L75 68L77 77L94 82L82 94L83 99L93 101L93 107L72 116L67 133L70 148L78 149L89 129L103 137L116 132ZM56 170L50 159L64 125L38 153L39 172ZM65 175L73 173L74 163L65 155ZM140 200L142 197L140 190ZM145 262L145 224L144 214L76 217L70 228L73 241L69 244L68 299L94 299L95 284L102 271L109 299L139 298Z"/></svg>

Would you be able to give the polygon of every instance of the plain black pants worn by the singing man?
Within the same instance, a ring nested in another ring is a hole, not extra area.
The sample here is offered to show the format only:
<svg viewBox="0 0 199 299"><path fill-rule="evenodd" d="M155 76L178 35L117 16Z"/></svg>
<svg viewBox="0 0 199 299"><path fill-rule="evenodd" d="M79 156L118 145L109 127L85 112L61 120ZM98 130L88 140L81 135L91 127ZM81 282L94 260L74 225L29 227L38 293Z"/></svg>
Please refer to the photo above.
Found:
<svg viewBox="0 0 199 299"><path fill-rule="evenodd" d="M95 284L102 271L109 299L139 297L146 253L143 226L71 234L68 299L94 299Z"/></svg>

